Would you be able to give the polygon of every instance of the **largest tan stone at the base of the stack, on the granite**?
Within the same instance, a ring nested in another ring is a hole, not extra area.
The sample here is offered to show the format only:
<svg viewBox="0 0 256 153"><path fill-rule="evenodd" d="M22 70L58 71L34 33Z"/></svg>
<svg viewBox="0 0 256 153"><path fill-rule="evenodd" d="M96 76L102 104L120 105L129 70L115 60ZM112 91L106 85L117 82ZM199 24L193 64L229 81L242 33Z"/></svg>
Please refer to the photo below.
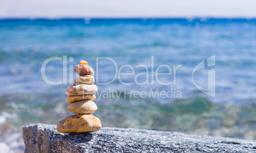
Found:
<svg viewBox="0 0 256 153"><path fill-rule="evenodd" d="M57 131L62 133L95 132L101 129L101 121L87 114L75 114L61 119L57 123Z"/></svg>

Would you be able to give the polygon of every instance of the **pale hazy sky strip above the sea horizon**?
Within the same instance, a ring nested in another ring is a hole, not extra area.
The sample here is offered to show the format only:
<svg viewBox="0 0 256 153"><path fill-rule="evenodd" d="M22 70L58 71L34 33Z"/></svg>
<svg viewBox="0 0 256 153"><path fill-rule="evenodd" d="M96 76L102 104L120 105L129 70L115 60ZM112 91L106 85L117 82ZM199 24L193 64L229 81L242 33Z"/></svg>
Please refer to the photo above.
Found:
<svg viewBox="0 0 256 153"><path fill-rule="evenodd" d="M0 0L0 18L255 18L256 0Z"/></svg>

